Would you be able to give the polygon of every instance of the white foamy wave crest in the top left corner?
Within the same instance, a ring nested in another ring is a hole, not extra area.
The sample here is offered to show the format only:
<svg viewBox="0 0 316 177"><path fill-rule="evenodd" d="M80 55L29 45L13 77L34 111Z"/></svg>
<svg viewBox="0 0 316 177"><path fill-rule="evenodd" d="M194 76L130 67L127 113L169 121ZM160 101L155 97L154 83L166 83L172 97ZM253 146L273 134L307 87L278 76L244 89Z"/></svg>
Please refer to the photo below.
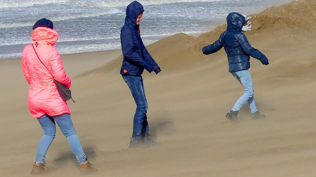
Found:
<svg viewBox="0 0 316 177"><path fill-rule="evenodd" d="M0 8L29 7L33 5L59 4L66 3L67 0L41 0L41 1L19 1L19 2L0 2Z"/></svg>

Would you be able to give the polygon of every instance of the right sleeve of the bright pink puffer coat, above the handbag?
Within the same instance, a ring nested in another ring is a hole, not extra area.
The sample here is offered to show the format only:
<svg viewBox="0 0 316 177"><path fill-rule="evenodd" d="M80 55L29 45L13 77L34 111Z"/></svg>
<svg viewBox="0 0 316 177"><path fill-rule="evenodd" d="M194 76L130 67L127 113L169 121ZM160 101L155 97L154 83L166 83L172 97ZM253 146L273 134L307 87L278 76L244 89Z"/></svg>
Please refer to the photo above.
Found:
<svg viewBox="0 0 316 177"><path fill-rule="evenodd" d="M52 75L55 77L55 80L59 83L64 84L66 87L70 88L71 80L70 77L66 74L63 66L63 62L60 59L60 55L56 48L53 48L51 52L51 67L52 67Z"/></svg>

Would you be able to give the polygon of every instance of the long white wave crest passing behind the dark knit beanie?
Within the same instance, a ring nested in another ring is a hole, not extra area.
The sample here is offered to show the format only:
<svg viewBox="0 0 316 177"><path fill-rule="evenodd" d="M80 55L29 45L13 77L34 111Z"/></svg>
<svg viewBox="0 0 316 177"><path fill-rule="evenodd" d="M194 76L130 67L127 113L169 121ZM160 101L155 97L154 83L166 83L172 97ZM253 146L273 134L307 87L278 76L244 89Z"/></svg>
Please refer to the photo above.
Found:
<svg viewBox="0 0 316 177"><path fill-rule="evenodd" d="M110 10L102 11L102 12L95 12L95 13L88 13L88 14L73 14L73 15L64 15L64 16L57 16L57 17L48 17L49 20L55 21L62 21L62 20L71 20L71 19L78 19L78 18L87 18L87 17L96 17L105 14L116 14L119 13L120 10L111 8ZM0 24L0 28L16 28L22 26L33 26L37 20L32 20L28 22L18 22L18 23L3 23Z"/></svg>

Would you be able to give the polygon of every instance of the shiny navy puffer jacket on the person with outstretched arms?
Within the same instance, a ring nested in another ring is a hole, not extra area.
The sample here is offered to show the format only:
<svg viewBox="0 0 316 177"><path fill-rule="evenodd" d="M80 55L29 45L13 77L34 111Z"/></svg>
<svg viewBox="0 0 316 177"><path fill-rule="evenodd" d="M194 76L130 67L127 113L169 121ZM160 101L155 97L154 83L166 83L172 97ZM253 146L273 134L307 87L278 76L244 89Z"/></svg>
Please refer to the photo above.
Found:
<svg viewBox="0 0 316 177"><path fill-rule="evenodd" d="M228 56L229 72L237 72L250 68L250 57L268 65L268 58L258 49L251 47L245 34L241 32L246 19L243 15L232 12L227 16L227 30L213 44L205 46L203 54L213 54L224 47Z"/></svg>

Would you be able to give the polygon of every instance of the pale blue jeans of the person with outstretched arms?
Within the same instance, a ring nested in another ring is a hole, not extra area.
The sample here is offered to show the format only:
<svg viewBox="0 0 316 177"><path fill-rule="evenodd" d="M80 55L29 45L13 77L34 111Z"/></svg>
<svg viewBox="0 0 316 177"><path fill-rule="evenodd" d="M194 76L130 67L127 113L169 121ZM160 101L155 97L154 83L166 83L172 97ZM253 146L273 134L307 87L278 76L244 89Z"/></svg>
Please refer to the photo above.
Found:
<svg viewBox="0 0 316 177"><path fill-rule="evenodd" d="M241 83L244 87L245 93L237 100L233 109L231 111L239 111L241 106L246 103L249 104L251 113L258 111L255 100L253 98L253 86L251 76L248 70L242 70L237 72L232 72L232 75Z"/></svg>

